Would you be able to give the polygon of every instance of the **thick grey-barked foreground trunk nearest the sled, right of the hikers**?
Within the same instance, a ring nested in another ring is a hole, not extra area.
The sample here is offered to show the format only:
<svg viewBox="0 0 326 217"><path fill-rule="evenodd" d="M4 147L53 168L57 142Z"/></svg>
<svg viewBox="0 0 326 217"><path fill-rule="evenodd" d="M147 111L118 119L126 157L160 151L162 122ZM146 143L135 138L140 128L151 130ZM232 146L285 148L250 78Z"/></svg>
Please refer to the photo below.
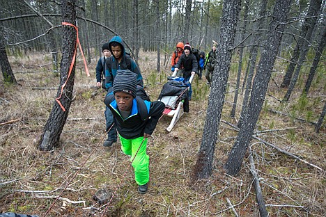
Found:
<svg viewBox="0 0 326 217"><path fill-rule="evenodd" d="M221 34L217 44L217 63L212 77L212 89L208 99L208 109L203 129L201 147L194 167L194 179L207 178L212 174L219 120L221 120L228 72L230 70L232 47L235 38L241 0L224 1Z"/></svg>

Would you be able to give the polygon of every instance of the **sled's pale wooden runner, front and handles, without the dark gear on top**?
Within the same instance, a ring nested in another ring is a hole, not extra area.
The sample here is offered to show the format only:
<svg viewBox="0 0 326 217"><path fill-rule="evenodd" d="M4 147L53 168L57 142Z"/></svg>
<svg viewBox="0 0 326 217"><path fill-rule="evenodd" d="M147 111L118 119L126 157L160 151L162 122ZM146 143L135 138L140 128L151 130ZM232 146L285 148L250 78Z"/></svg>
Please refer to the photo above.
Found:
<svg viewBox="0 0 326 217"><path fill-rule="evenodd" d="M173 72L172 77L176 77L176 72ZM189 79L189 83L192 83L194 79L194 74ZM189 87L187 88L189 90ZM183 116L185 111L183 110L183 104L185 103L185 99L180 99L180 96L163 96L162 99L159 99L161 102L165 104L165 109L163 111L163 115L172 118L169 127L165 130L170 132L173 127L176 125L178 120Z"/></svg>

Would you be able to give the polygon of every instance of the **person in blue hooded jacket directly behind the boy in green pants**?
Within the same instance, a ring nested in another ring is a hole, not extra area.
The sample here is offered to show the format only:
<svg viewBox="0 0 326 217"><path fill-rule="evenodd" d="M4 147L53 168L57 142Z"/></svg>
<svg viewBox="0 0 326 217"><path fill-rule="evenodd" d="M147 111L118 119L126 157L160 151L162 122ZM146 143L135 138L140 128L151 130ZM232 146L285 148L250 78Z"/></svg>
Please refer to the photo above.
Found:
<svg viewBox="0 0 326 217"><path fill-rule="evenodd" d="M114 77L116 77L116 72L118 70L130 70L137 74L137 86L143 87L143 77L137 64L132 60L132 58L125 53L125 44L121 37L114 36L109 41L109 50L112 56L105 61L105 88L107 89L107 94L111 93L112 86L114 83ZM107 140L104 140L104 147L111 147L113 143L116 143L116 126L110 127L113 123L113 115L109 108L105 109L105 120L107 125ZM110 129L110 130L109 130ZM108 131L109 130L109 131Z"/></svg>

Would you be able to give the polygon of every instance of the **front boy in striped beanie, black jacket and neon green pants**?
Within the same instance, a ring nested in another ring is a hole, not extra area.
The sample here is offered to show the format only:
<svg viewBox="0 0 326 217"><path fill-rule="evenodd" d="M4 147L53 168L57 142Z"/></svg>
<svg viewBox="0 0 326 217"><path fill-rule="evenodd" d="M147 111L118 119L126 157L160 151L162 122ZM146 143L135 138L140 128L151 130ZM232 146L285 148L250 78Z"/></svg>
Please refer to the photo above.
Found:
<svg viewBox="0 0 326 217"><path fill-rule="evenodd" d="M149 181L147 138L153 133L165 105L163 102L149 102L136 97L136 90L137 74L130 70L118 70L113 92L107 95L104 103L114 115L121 150L131 155L138 192L146 193Z"/></svg>

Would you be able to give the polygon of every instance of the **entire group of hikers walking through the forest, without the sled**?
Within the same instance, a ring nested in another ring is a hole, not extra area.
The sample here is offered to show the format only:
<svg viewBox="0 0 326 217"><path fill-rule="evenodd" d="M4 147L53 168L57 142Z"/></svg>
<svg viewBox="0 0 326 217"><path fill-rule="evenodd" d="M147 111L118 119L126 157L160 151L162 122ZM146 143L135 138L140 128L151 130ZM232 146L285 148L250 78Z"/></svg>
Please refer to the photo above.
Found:
<svg viewBox="0 0 326 217"><path fill-rule="evenodd" d="M215 52L216 47L205 57L203 51L199 52L188 43L184 45L178 42L172 54L171 71L188 82L192 74L198 74L201 79L206 69L205 77L210 84ZM104 43L102 53L96 66L96 86L107 90L104 99L107 139L103 146L111 147L119 138L121 150L130 156L138 192L146 193L149 182L147 140L162 116L165 104L160 101L150 102L143 90L139 67L126 53L121 37L114 36ZM188 97L192 99L191 85Z"/></svg>

